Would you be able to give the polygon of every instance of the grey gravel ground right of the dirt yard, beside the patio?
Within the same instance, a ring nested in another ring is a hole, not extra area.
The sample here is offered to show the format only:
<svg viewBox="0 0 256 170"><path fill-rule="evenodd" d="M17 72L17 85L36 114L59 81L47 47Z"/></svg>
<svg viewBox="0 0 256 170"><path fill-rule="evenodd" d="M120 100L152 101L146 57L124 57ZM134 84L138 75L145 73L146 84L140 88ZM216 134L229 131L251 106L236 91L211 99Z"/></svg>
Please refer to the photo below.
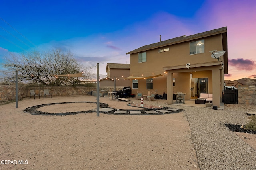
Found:
<svg viewBox="0 0 256 170"><path fill-rule="evenodd" d="M246 111L256 111L255 105L224 104L224 110L213 110L204 107L166 105L164 101L159 100L157 104L162 107L183 109L186 112L201 170L256 169L256 150L225 126L226 123L248 123Z"/></svg>

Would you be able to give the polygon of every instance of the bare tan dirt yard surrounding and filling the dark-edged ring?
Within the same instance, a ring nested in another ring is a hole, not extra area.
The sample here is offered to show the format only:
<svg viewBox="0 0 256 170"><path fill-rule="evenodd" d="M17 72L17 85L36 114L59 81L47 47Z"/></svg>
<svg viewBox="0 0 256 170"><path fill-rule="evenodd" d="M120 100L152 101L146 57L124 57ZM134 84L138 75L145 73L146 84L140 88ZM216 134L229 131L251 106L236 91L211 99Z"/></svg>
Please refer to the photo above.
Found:
<svg viewBox="0 0 256 170"><path fill-rule="evenodd" d="M165 115L96 113L51 116L24 113L56 102L96 102L95 96L24 99L0 106L0 169L186 169L198 160L184 112ZM100 98L117 109L128 102ZM56 104L40 111L61 113L96 108L95 103Z"/></svg>

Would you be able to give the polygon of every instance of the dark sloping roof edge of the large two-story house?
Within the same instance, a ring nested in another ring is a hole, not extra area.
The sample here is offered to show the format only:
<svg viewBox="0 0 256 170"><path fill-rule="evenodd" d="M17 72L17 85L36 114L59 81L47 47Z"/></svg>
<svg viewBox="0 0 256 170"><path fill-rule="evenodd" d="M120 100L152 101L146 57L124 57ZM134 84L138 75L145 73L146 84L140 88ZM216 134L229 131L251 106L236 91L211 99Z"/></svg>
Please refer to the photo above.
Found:
<svg viewBox="0 0 256 170"><path fill-rule="evenodd" d="M158 43L145 45L143 47L140 47L138 49L130 51L126 54L138 53L138 52L142 52L142 51L146 51L146 50L150 50L150 49L155 49L155 48L164 47L164 46L167 46L167 45L182 43L182 42L185 42L185 41L191 41L193 39L208 37L208 36L211 36L211 35L216 35L216 34L226 33L226 32L227 32L227 27L222 27L222 28L219 28L219 29L214 29L214 30L211 30L211 31L206 31L206 32L203 32L203 33L198 33L198 34L194 34L194 35L190 35L190 36L183 35L183 36L176 37L176 38L173 38L173 39L160 41Z"/></svg>

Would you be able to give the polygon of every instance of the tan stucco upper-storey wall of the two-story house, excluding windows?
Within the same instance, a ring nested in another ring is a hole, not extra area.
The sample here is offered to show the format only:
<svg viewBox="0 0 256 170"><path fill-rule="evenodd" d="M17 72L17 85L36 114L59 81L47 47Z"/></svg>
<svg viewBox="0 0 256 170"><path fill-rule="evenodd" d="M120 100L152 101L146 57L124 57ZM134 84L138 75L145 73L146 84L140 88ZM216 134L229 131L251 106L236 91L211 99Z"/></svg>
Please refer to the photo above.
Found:
<svg viewBox="0 0 256 170"><path fill-rule="evenodd" d="M221 35L214 35L204 39L204 53L190 55L190 42L169 45L157 49L146 51L147 61L138 63L138 53L130 54L130 75L133 76L150 76L164 73L163 67L166 66L186 66L187 63L198 64L214 62L216 59L211 57L211 50L222 50ZM200 40L200 39L198 39ZM159 49L169 48L169 51L158 53Z"/></svg>

